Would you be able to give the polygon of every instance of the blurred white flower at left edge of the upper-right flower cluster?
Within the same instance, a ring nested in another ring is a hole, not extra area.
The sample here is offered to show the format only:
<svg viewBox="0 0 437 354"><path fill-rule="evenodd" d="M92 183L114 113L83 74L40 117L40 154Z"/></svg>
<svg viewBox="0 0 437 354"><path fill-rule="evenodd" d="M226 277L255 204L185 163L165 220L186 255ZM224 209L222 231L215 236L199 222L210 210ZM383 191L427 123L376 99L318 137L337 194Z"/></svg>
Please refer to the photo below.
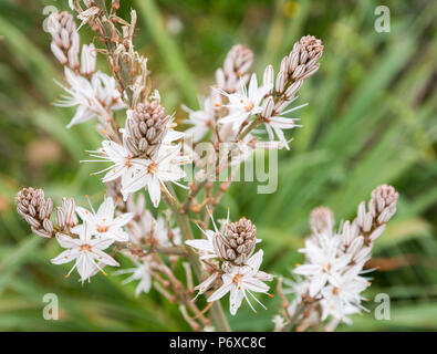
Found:
<svg viewBox="0 0 437 354"><path fill-rule="evenodd" d="M199 111L193 111L186 105L183 105L183 110L188 113L188 119L184 121L184 123L193 125L185 131L185 134L191 136L194 143L202 139L211 128L214 119L211 98L207 97L205 100L199 100Z"/></svg>

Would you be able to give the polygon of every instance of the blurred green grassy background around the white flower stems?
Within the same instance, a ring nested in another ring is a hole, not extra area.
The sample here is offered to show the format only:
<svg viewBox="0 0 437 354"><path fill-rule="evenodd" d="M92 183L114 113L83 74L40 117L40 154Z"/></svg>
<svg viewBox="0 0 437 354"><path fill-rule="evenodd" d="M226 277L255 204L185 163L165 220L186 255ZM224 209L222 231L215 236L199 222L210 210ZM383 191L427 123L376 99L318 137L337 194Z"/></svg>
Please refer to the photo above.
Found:
<svg viewBox="0 0 437 354"><path fill-rule="evenodd" d="M256 184L236 184L223 198L232 218L246 216L263 239L264 269L290 274L296 249L309 232L308 215L331 207L337 220L353 218L361 200L387 183L399 191L398 211L375 246L370 313L340 330L437 330L436 1L385 1L391 32L377 33L378 1L122 1L121 14L138 12L137 50L148 59L153 83L169 112L184 118L180 103L195 107L196 94L214 82L235 43L256 53L259 75L278 69L301 35L325 45L319 73L305 82L300 103L304 127L294 131L291 152L281 153L279 189L257 195ZM50 52L43 21L66 1L0 1L0 330L3 331L180 331L179 311L152 291L134 296L136 283L96 275L82 287L65 279L67 266L52 266L56 242L32 236L14 211L22 186L44 188L95 204L104 187L80 164L100 137L93 124L65 125L74 110L51 105L61 93L53 79L62 69ZM44 10L45 9L45 10ZM92 40L81 30L82 43ZM106 70L104 59L100 67ZM196 80L194 80L196 77ZM391 296L391 320L376 321L376 293ZM42 298L60 299L60 320L44 321ZM271 330L279 296L268 311L243 305L230 317L235 330ZM228 298L223 301L228 306Z"/></svg>

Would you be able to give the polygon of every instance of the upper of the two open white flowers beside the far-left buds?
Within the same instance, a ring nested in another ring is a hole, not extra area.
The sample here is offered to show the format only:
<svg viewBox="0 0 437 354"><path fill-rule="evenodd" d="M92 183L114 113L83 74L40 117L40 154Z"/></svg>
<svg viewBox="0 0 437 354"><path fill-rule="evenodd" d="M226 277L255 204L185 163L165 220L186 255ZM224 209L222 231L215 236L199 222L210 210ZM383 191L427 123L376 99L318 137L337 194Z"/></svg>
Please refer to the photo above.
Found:
<svg viewBox="0 0 437 354"><path fill-rule="evenodd" d="M114 241L127 242L129 236L122 228L134 217L133 212L126 212L114 218L115 205L111 197L98 207L97 212L76 207L81 219L91 228L91 233L98 238L112 238Z"/></svg>

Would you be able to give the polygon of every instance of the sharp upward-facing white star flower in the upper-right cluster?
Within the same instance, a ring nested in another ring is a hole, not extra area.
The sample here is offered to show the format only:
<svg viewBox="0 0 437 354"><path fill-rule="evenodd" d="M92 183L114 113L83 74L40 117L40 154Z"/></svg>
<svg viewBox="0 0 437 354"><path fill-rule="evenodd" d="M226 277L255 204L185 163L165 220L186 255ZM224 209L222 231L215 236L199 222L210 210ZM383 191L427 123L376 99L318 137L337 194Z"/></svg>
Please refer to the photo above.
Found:
<svg viewBox="0 0 437 354"><path fill-rule="evenodd" d="M220 90L219 92L229 100L229 103L223 105L229 108L229 114L220 118L219 122L222 124L232 123L232 128L237 132L246 119L262 112L262 98L270 90L271 85L258 87L257 74L252 74L248 90L241 83L240 93L229 94Z"/></svg>

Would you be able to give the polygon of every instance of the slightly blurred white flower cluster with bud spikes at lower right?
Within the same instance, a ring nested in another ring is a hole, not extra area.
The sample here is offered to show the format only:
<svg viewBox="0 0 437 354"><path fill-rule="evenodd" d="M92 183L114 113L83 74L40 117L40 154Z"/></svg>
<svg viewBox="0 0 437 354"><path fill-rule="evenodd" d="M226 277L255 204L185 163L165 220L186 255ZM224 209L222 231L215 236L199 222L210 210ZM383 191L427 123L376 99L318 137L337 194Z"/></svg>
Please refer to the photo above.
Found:
<svg viewBox="0 0 437 354"><path fill-rule="evenodd" d="M327 316L350 323L347 315L361 313L365 300L361 293L370 287L362 274L371 259L373 242L383 233L386 223L396 212L398 194L387 185L372 191L367 210L365 202L357 208L353 222L345 221L340 232L334 231L334 217L330 209L321 207L311 214L312 236L305 240L305 263L294 269L304 275L294 284L295 301L289 312L308 296L321 306L321 321Z"/></svg>

